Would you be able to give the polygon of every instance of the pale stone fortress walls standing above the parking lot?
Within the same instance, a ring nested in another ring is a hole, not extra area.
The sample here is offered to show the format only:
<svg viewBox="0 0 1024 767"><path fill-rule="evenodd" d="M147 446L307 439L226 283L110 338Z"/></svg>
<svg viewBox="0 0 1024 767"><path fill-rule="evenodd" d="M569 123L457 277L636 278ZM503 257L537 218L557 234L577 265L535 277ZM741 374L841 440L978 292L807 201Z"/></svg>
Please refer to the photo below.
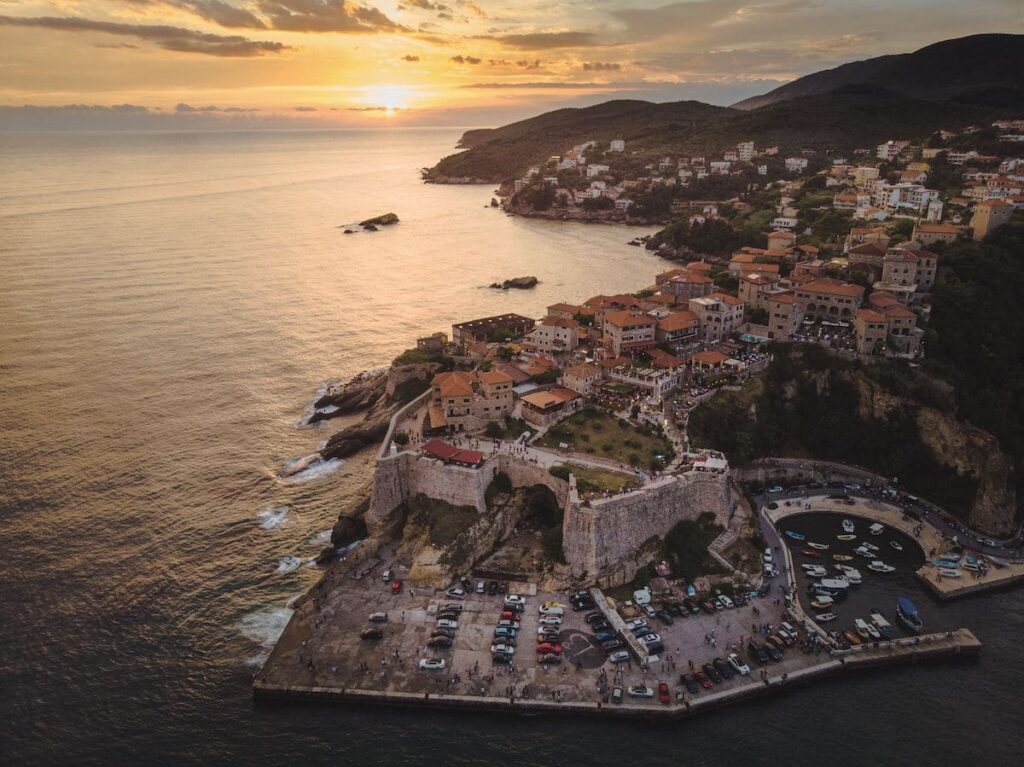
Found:
<svg viewBox="0 0 1024 767"><path fill-rule="evenodd" d="M494 510L487 508L486 491L499 473L507 475L513 487L542 484L551 489L563 510L562 551L569 571L572 577L597 583L631 580L656 553L656 547L647 544L664 538L683 519L711 512L723 527L729 523L732 503L724 472L670 473L629 493L582 501L572 475L568 481L560 479L515 454L498 452L471 468L444 463L414 449L402 450L392 443L395 424L418 404L419 400L414 400L395 414L377 458L365 517L375 537L399 534L408 503L422 494L476 509L484 530L476 530L474 525L465 535L475 537L470 547L473 551L485 553L503 531L518 522L495 520Z"/></svg>

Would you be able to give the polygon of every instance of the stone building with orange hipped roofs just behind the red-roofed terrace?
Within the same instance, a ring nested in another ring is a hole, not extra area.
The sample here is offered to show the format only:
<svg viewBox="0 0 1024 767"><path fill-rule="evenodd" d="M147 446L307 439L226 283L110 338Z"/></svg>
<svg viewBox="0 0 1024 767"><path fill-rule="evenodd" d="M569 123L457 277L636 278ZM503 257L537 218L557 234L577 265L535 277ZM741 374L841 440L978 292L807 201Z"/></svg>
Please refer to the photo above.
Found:
<svg viewBox="0 0 1024 767"><path fill-rule="evenodd" d="M512 378L505 373L438 373L430 388L427 428L431 432L479 431L512 412Z"/></svg>

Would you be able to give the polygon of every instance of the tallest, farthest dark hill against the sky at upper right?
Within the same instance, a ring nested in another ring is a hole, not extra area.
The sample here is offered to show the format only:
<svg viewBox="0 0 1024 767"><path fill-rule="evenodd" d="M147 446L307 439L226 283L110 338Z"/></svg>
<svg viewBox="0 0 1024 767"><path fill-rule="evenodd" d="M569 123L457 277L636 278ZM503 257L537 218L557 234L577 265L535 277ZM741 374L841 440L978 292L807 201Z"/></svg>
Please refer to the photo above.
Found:
<svg viewBox="0 0 1024 767"><path fill-rule="evenodd" d="M972 35L896 55L815 72L733 104L757 110L849 85L887 88L914 98L1020 106L1024 103L1024 35Z"/></svg>

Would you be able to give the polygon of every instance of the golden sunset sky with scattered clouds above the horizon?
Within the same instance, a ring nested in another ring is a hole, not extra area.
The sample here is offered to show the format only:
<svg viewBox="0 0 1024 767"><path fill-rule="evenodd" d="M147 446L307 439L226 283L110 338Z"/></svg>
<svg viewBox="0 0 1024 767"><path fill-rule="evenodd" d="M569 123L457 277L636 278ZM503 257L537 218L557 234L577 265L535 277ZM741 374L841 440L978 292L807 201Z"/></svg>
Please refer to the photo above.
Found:
<svg viewBox="0 0 1024 767"><path fill-rule="evenodd" d="M0 127L488 126L730 104L1024 0L0 0Z"/></svg>

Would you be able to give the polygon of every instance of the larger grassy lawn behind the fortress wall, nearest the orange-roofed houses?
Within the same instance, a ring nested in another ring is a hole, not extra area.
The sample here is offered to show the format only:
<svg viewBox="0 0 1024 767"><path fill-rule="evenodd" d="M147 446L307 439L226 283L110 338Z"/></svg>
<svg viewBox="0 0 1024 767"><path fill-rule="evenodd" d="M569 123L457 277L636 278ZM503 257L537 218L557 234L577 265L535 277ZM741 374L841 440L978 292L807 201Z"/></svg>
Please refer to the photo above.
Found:
<svg viewBox="0 0 1024 767"><path fill-rule="evenodd" d="M669 440L651 429L634 426L590 408L553 426L537 443L558 450L562 442L578 453L644 468L651 465L654 456L672 455Z"/></svg>

